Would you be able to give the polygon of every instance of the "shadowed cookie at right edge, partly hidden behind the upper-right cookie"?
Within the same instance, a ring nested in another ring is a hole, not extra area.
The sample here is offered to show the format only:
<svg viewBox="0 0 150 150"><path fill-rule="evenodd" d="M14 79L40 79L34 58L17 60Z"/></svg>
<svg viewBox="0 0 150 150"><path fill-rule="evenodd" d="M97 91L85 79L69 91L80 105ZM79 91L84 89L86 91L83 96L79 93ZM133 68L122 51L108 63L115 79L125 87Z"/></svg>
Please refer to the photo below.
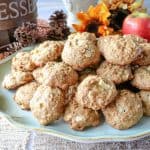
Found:
<svg viewBox="0 0 150 150"><path fill-rule="evenodd" d="M143 52L133 62L135 65L146 66L150 65L150 43L141 44Z"/></svg>

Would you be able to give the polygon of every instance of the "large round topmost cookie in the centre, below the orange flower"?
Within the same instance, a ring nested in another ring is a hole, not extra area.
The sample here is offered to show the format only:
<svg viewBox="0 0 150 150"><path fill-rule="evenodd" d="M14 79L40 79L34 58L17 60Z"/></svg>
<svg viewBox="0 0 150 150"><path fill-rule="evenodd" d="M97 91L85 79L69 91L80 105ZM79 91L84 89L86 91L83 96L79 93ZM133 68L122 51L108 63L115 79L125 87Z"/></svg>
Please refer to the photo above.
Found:
<svg viewBox="0 0 150 150"><path fill-rule="evenodd" d="M62 52L62 60L79 71L97 64L100 52L95 35L87 32L70 35Z"/></svg>

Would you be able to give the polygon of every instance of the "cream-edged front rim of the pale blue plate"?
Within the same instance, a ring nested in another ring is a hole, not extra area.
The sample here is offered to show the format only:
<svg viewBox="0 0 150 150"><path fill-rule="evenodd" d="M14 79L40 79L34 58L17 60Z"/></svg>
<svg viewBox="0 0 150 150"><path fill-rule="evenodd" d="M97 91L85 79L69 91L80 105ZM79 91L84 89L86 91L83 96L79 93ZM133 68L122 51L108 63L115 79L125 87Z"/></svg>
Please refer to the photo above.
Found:
<svg viewBox="0 0 150 150"><path fill-rule="evenodd" d="M129 142L129 141L135 141L135 140L139 140L141 138L144 137L148 137L150 136L150 130L149 131L145 131L142 133L138 133L138 134L134 134L134 135L130 135L130 136L113 136L113 137L79 137L79 136L75 136L75 135L69 135L67 133L63 133L60 131L55 131L53 129L44 129L44 128L40 128L40 127L31 127L28 125L24 125L21 124L15 120L13 120L13 118L0 111L0 116L4 117L5 119L7 119L8 123L10 125L12 125L13 127L17 127L20 129L27 129L27 130L34 130L46 135L51 135L51 136L55 136L58 138L62 138L62 139L66 139L69 141L73 141L73 142L78 142L78 143L101 143L101 142Z"/></svg>

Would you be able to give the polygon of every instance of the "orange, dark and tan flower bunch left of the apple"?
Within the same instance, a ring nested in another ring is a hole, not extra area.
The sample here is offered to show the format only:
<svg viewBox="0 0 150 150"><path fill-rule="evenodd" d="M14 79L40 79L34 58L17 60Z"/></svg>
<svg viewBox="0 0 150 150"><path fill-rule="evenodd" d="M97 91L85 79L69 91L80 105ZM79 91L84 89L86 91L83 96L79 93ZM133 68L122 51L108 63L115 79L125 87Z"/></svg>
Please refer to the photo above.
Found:
<svg viewBox="0 0 150 150"><path fill-rule="evenodd" d="M97 37L120 33L124 19L134 11L143 9L143 1L102 0L85 12L78 12L80 24L73 24L77 32L92 32Z"/></svg>

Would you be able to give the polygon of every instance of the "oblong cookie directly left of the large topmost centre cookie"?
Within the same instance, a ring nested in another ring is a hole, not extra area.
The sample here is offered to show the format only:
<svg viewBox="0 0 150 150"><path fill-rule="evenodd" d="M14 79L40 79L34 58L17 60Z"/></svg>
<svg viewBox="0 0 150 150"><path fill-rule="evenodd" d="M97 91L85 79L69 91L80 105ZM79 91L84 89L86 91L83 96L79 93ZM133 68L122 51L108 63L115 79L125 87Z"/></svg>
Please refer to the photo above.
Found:
<svg viewBox="0 0 150 150"><path fill-rule="evenodd" d="M31 51L31 59L36 66L43 66L60 57L63 48L64 42L62 41L45 41Z"/></svg>

